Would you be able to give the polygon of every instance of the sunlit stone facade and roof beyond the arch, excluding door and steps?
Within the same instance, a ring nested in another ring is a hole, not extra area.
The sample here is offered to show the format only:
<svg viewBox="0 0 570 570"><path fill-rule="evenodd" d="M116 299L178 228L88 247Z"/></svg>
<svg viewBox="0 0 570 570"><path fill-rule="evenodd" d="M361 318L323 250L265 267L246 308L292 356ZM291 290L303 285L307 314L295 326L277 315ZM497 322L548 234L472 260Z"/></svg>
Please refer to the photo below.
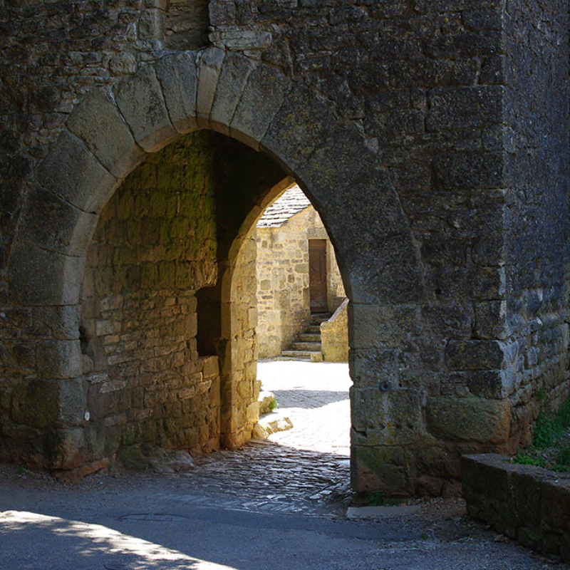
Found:
<svg viewBox="0 0 570 570"><path fill-rule="evenodd" d="M257 347L259 358L280 356L311 321L309 244L324 242L326 309L333 313L345 299L341 273L326 229L298 186L266 209L256 225ZM315 312L315 311L314 311Z"/></svg>

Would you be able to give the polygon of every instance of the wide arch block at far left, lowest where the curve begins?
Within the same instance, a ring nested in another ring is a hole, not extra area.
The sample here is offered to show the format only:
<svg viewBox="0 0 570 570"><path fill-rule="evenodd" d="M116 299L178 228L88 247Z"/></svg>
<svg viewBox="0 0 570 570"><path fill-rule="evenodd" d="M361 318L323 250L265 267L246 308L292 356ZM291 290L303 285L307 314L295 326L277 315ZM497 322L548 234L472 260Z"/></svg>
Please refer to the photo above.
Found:
<svg viewBox="0 0 570 570"><path fill-rule="evenodd" d="M17 242L10 259L10 295L24 305L75 305L84 261Z"/></svg>

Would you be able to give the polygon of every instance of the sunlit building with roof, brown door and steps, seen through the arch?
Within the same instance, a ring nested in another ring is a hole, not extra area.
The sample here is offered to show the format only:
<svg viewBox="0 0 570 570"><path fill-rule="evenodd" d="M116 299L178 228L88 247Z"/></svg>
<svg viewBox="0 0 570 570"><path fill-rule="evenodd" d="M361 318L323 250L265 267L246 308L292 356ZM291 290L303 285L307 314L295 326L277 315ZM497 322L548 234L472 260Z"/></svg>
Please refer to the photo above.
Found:
<svg viewBox="0 0 570 570"><path fill-rule="evenodd" d="M259 358L348 361L348 299L321 217L287 188L256 224Z"/></svg>

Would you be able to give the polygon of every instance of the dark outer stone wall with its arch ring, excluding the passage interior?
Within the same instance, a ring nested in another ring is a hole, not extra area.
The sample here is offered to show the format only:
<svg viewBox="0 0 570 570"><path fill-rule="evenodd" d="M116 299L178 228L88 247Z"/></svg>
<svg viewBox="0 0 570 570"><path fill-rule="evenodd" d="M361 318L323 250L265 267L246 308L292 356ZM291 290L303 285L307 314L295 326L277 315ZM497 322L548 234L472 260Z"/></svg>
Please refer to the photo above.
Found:
<svg viewBox="0 0 570 570"><path fill-rule="evenodd" d="M76 465L89 239L137 162L197 128L263 152L230 152L240 175L275 160L331 237L356 488L452 492L462 453L524 441L531 394L567 391L566 5L214 0L222 49L199 53L167 51L161 6L0 1L2 457ZM242 179L217 192L227 244L281 180Z"/></svg>

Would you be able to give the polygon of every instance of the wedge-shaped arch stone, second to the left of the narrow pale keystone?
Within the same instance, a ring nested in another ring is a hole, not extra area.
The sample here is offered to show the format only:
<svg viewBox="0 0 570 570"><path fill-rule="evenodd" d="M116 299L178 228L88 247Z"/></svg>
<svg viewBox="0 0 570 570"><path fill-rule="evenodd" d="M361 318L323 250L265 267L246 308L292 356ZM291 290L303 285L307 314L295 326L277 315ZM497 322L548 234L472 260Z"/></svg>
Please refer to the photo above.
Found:
<svg viewBox="0 0 570 570"><path fill-rule="evenodd" d="M160 83L151 66L118 83L113 93L135 140L147 152L160 150L179 136L170 123Z"/></svg>

